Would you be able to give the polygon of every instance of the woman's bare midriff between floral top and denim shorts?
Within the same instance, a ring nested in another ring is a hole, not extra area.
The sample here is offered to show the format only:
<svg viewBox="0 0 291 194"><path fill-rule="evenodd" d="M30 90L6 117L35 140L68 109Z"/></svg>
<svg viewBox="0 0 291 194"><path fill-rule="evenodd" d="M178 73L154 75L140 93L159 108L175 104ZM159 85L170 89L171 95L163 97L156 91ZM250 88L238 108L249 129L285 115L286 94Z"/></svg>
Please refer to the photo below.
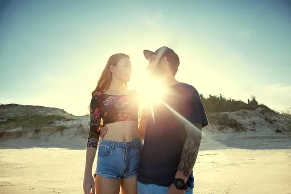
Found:
<svg viewBox="0 0 291 194"><path fill-rule="evenodd" d="M106 125L107 133L104 140L115 142L130 142L139 138L138 123L136 121L119 121Z"/></svg>

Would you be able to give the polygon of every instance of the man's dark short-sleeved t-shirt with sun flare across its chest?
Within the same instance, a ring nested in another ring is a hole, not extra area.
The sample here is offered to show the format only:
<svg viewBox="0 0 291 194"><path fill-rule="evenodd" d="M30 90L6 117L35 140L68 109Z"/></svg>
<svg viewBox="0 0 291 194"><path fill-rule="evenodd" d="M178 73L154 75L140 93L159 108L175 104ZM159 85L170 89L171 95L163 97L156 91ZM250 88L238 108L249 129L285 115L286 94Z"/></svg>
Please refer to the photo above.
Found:
<svg viewBox="0 0 291 194"><path fill-rule="evenodd" d="M184 124L208 125L200 95L192 85L172 85L161 101L143 110L142 116L146 118L146 134L137 180L169 187L177 173L186 139ZM193 171L187 184L194 187Z"/></svg>

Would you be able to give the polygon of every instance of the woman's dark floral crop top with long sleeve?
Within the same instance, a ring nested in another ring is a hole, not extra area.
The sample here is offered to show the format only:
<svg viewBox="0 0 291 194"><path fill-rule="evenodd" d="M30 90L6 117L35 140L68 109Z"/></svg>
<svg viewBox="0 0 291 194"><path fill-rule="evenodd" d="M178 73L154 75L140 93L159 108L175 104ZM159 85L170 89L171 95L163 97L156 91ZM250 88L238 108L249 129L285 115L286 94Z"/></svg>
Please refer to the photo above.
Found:
<svg viewBox="0 0 291 194"><path fill-rule="evenodd" d="M90 103L90 130L88 134L87 147L97 149L100 132L101 119L103 126L118 121L138 122L138 97L135 91L128 95L113 96L103 92L93 95Z"/></svg>

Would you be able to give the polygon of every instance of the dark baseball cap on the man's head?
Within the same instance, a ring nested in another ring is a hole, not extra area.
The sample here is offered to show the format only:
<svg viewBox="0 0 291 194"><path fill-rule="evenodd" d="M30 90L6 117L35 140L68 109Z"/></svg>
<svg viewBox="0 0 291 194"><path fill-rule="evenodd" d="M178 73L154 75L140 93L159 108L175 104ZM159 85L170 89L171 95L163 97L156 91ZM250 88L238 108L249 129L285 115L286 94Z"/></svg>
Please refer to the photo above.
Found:
<svg viewBox="0 0 291 194"><path fill-rule="evenodd" d="M170 49L168 47L161 47L160 49L157 49L155 52L150 50L144 50L144 56L146 57L146 60L152 56L152 55L158 55L159 58L167 57L167 60L172 65L180 65L180 60L176 52L174 52L173 49Z"/></svg>

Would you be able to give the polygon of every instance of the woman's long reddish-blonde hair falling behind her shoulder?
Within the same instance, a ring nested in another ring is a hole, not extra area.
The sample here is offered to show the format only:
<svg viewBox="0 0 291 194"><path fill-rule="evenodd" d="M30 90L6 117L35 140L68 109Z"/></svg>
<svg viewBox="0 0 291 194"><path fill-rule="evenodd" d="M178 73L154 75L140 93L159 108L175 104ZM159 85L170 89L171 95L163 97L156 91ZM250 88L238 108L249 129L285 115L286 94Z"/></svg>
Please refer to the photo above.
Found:
<svg viewBox="0 0 291 194"><path fill-rule="evenodd" d="M110 65L116 66L118 61L124 57L130 58L129 55L123 53L113 54L109 57L107 64L99 77L97 86L95 90L92 91L91 96L93 96L96 92L103 92L109 88L112 80ZM124 83L124 87L127 89L127 82Z"/></svg>

